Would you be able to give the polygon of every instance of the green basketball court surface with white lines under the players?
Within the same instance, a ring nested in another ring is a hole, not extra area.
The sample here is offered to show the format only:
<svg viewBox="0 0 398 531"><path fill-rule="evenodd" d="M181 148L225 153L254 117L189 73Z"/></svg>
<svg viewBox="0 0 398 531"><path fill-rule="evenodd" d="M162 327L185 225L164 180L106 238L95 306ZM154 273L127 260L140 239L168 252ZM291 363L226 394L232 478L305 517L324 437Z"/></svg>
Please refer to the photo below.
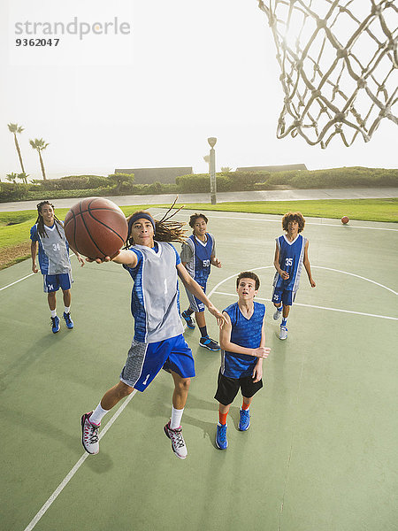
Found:
<svg viewBox="0 0 398 531"><path fill-rule="evenodd" d="M130 277L121 266L80 268L72 258L75 328L52 335L42 275L30 274L29 260L12 266L0 272L4 530L396 529L398 228L307 219L317 288L303 273L281 342L270 302L280 218L206 215L223 264L212 268L211 301L221 310L233 303L237 273L255 270L267 308L272 352L249 431L237 429L237 397L228 449L215 447L219 354L187 330L196 365L182 418L188 458L175 458L163 433L173 388L164 372L104 418L100 453L88 456L80 415L125 362Z"/></svg>

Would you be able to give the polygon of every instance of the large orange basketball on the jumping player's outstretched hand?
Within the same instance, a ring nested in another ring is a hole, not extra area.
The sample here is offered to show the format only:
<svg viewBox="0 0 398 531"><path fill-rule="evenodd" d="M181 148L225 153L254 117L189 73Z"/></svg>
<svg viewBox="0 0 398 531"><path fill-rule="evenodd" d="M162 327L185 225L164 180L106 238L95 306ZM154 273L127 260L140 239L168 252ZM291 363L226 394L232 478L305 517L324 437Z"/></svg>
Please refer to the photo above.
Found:
<svg viewBox="0 0 398 531"><path fill-rule="evenodd" d="M87 197L73 205L64 221L66 240L88 258L113 257L127 238L127 221L117 204Z"/></svg>

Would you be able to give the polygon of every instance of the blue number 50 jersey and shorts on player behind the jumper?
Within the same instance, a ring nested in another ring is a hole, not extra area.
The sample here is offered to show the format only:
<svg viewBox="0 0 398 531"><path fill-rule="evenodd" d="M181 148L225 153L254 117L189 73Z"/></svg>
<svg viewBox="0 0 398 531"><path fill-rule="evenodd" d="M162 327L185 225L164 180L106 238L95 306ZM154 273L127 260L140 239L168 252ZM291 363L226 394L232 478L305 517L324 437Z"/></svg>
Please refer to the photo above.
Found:
<svg viewBox="0 0 398 531"><path fill-rule="evenodd" d="M206 242L201 242L195 235L190 235L187 242L182 244L181 261L187 267L190 276L195 279L206 293L207 279L210 275L210 260L216 256L216 241L214 236L206 233ZM193 296L188 289L189 307L193 312L204 312L204 304Z"/></svg>

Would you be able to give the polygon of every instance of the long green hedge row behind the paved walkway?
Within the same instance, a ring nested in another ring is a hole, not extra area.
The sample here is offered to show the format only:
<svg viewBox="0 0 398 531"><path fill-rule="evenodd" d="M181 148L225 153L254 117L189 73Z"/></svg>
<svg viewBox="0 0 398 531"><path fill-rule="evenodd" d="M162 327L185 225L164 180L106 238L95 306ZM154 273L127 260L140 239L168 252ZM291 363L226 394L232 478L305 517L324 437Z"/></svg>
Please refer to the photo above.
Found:
<svg viewBox="0 0 398 531"><path fill-rule="evenodd" d="M272 189L284 185L292 189L325 189L347 187L398 186L398 170L382 168L333 168L329 170L289 172L228 172L217 173L218 192ZM34 181L34 184L0 182L0 202L40 200L50 196L64 197L123 196L172 193L208 193L208 173L182 175L176 184L154 182L134 184L133 174L70 175L62 179Z"/></svg>

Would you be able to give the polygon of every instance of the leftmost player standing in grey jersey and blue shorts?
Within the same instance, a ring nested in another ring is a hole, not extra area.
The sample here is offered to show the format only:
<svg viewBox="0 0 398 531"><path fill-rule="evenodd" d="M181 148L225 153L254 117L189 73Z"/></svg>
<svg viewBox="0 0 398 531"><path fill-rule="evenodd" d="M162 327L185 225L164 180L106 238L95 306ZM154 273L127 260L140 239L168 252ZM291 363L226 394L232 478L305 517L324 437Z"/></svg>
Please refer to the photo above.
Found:
<svg viewBox="0 0 398 531"><path fill-rule="evenodd" d="M64 319L67 328L73 328L71 319L71 287L72 266L69 259L69 244L65 238L64 225L54 213L54 205L49 201L42 201L37 205L38 216L34 226L30 229L30 253L32 257L32 271L37 273L37 250L39 251L39 266L43 275L44 293L51 312L51 329L54 334L59 332L59 318L57 316L57 290L62 289L64 296ZM74 250L80 265L84 260Z"/></svg>

